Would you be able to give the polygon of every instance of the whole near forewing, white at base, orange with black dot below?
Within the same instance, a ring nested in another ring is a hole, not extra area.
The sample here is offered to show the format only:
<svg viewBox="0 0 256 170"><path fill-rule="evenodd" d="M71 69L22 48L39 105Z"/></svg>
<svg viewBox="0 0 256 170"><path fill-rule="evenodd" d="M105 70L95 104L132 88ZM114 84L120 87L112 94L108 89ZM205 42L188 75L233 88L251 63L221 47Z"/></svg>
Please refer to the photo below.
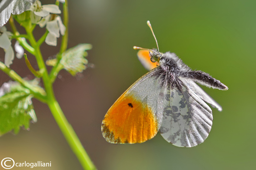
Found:
<svg viewBox="0 0 256 170"><path fill-rule="evenodd" d="M163 114L162 75L155 68L138 79L111 106L101 131L110 143L142 143L160 129Z"/></svg>

